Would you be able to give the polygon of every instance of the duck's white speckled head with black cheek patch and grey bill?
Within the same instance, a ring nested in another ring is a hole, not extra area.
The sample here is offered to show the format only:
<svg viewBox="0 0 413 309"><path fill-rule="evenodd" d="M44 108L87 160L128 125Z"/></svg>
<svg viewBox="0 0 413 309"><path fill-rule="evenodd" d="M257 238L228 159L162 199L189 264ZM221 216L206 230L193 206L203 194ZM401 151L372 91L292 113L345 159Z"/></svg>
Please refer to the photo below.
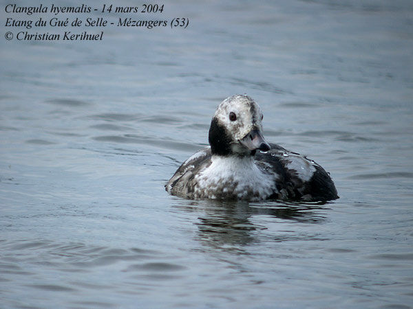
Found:
<svg viewBox="0 0 413 309"><path fill-rule="evenodd" d="M270 146L262 136L262 111L248 95L233 95L218 106L209 128L213 155L251 156Z"/></svg>

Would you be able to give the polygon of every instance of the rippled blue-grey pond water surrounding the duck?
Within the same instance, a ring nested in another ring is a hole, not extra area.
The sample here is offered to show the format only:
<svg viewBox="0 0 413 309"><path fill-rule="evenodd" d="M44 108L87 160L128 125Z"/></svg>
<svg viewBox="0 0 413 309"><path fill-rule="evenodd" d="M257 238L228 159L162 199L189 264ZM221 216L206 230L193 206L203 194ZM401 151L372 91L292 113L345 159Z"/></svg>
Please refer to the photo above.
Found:
<svg viewBox="0 0 413 309"><path fill-rule="evenodd" d="M191 23L0 39L1 306L412 307L412 2L163 14ZM339 200L165 192L235 93L260 104L268 141L331 173Z"/></svg>

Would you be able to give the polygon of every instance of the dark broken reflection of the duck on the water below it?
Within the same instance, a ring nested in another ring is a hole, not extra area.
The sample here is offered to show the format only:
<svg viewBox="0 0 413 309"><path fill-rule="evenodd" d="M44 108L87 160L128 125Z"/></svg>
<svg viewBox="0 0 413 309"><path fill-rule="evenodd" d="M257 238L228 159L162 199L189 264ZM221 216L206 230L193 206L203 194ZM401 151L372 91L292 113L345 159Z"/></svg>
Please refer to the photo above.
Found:
<svg viewBox="0 0 413 309"><path fill-rule="evenodd" d="M326 221L328 205L321 203L283 203L244 201L185 201L176 207L199 213L197 239L215 249L245 253L248 244L260 242L260 230L266 230L268 224L280 225L308 223L317 224ZM284 232L284 233L283 233ZM273 241L284 241L317 236L304 235L303 231L285 231L272 236Z"/></svg>

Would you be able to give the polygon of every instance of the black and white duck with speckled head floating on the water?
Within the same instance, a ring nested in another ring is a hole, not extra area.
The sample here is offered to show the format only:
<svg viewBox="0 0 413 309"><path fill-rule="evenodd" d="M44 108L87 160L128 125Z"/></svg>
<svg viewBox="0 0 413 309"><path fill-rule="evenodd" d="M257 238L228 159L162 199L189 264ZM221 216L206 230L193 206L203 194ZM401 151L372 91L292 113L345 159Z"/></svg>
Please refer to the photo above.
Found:
<svg viewBox="0 0 413 309"><path fill-rule="evenodd" d="M326 202L339 198L321 165L267 143L263 117L248 95L226 98L211 120L210 146L184 161L165 190L189 199Z"/></svg>

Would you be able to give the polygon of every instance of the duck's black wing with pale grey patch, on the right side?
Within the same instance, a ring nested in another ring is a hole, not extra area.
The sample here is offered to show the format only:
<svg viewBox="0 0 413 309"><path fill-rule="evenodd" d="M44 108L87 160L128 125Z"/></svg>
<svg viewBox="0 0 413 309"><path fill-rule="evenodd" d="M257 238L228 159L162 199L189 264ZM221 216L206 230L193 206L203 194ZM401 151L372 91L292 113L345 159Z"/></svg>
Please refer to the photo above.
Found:
<svg viewBox="0 0 413 309"><path fill-rule="evenodd" d="M328 201L337 196L337 190L328 173L313 160L270 144L268 152L258 151L255 163L267 173L277 174L275 185L279 194L273 198Z"/></svg>

